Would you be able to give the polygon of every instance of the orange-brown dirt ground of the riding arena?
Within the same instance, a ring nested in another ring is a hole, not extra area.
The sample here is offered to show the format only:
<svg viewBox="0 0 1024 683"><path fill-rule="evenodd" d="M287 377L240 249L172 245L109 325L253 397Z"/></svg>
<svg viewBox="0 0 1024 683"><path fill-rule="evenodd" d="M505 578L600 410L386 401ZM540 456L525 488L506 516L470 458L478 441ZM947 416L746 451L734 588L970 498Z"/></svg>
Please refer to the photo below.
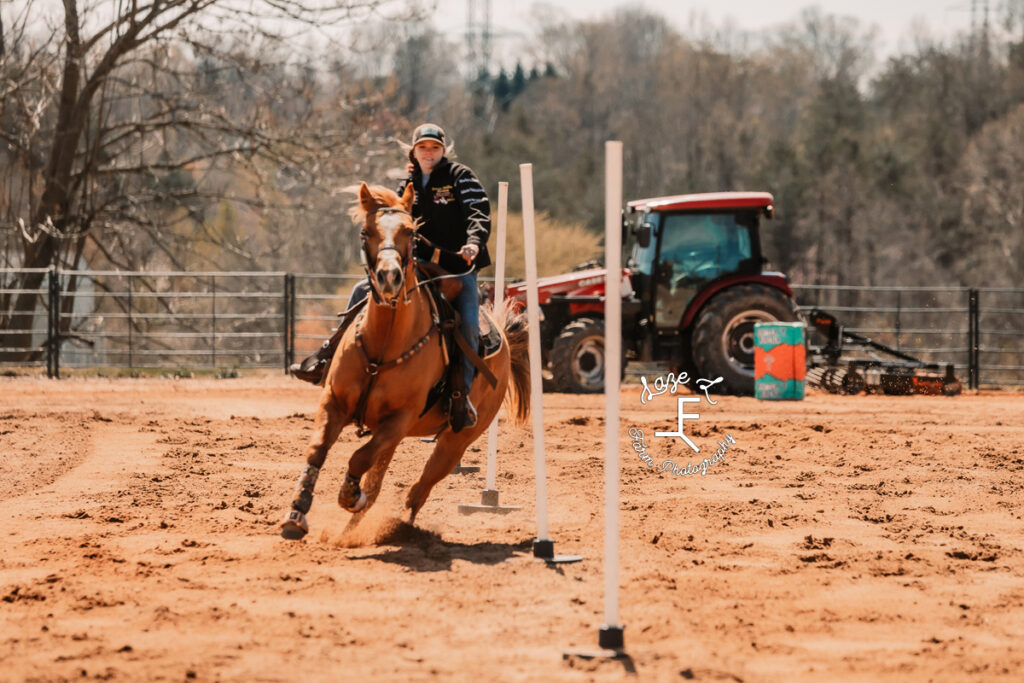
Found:
<svg viewBox="0 0 1024 683"><path fill-rule="evenodd" d="M349 429L309 536L282 540L316 398L283 376L0 379L0 680L1024 677L1022 394L701 399L696 457L654 435L676 396L625 388L626 661L562 656L604 618L602 397L544 396L551 538L585 558L557 568L531 556L530 431L507 425L498 487L520 511L459 515L481 472L402 524L430 447L409 441L343 536Z"/></svg>

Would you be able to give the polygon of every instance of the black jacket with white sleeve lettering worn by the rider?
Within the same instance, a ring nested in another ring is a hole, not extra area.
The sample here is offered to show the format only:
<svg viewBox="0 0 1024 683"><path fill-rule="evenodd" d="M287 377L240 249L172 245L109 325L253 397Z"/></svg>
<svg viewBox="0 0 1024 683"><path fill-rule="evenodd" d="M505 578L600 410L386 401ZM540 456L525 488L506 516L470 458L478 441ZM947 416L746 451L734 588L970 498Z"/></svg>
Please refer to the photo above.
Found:
<svg viewBox="0 0 1024 683"><path fill-rule="evenodd" d="M423 173L419 166L413 174L398 185L398 196L406 185L413 183L416 201L413 217L422 220L420 233L449 251L457 252L463 245L472 244L480 248L473 265L477 270L490 265L487 252L487 238L490 237L490 204L480 181L473 171L463 164L441 159L423 186ZM416 257L424 261L433 260L433 249L417 244ZM461 256L441 253L438 263L449 272L465 272L469 269Z"/></svg>

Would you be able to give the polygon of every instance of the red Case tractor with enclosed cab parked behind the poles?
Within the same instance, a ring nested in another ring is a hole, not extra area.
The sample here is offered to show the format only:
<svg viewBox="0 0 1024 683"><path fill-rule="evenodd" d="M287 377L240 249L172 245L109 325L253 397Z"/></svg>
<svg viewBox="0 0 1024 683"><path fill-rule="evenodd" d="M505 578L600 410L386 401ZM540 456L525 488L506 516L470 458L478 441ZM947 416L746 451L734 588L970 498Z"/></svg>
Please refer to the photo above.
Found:
<svg viewBox="0 0 1024 683"><path fill-rule="evenodd" d="M759 228L768 193L681 195L630 202L624 214L623 349L723 391L754 393L754 324L796 321L793 291L765 271ZM539 283L549 388L604 390L604 275L578 269ZM525 283L507 289L526 300Z"/></svg>

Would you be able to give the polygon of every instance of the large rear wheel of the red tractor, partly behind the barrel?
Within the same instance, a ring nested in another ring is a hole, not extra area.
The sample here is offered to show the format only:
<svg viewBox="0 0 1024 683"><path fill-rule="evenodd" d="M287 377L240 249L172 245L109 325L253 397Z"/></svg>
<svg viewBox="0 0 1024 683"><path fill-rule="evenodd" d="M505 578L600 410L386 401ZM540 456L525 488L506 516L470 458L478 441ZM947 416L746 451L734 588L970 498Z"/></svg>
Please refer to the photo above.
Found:
<svg viewBox="0 0 1024 683"><path fill-rule="evenodd" d="M712 389L754 394L754 324L797 319L794 303L778 290L739 285L712 297L693 328L693 358L700 377L724 382Z"/></svg>

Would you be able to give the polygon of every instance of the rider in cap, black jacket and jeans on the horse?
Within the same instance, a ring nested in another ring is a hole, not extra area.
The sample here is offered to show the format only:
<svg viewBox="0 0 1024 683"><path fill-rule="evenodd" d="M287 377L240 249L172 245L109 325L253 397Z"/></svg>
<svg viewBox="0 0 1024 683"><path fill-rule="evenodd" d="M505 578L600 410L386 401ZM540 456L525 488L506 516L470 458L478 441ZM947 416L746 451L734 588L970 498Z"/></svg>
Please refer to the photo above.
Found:
<svg viewBox="0 0 1024 683"><path fill-rule="evenodd" d="M462 290L452 302L462 318L460 330L471 349L479 344L479 294L476 273L490 265L487 238L490 236L490 204L472 169L451 161L452 153L444 130L425 123L413 131L413 146L409 151L409 176L398 185L398 195L410 183L416 193L413 217L420 220L419 233L439 249L418 242L416 258L433 261L452 273L462 273ZM444 251L441 251L444 250ZM348 310L367 298L370 286L360 281L352 290ZM319 383L324 371L344 329L354 315L346 315L331 341L302 364L293 365L292 373L299 379ZM473 381L473 365L463 358L466 388ZM476 423L476 410L466 398L466 425Z"/></svg>

